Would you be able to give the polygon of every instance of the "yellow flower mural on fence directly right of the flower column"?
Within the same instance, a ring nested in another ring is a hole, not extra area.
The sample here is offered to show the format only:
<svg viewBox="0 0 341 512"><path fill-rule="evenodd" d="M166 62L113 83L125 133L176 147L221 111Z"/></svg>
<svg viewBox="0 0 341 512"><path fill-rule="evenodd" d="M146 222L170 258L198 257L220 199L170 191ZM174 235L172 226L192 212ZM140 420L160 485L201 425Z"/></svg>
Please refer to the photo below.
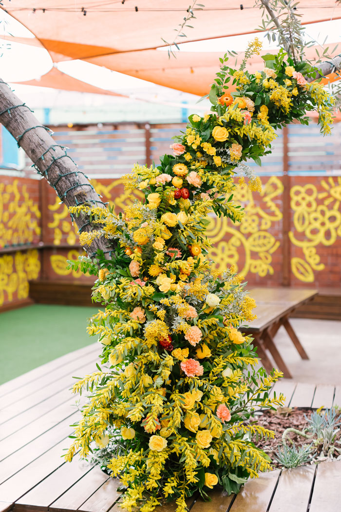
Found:
<svg viewBox="0 0 341 512"><path fill-rule="evenodd" d="M282 182L269 178L261 193L252 193L247 185L238 185L234 199L245 208L245 217L238 225L226 218L210 218L207 235L215 244L210 257L220 272L234 264L245 276L248 272L265 276L273 274L272 254L280 242L268 231L283 217L276 200L283 192ZM257 203L257 204L256 204Z"/></svg>

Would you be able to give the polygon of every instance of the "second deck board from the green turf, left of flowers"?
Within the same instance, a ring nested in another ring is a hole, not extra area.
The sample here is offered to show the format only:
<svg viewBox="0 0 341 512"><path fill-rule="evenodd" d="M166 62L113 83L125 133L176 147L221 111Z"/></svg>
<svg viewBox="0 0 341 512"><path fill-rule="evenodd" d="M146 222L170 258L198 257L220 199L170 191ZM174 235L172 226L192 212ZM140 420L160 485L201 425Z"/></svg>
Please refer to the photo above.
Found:
<svg viewBox="0 0 341 512"><path fill-rule="evenodd" d="M80 356L77 360L71 360L67 364L63 365L61 368L56 368L55 370L50 371L47 375L42 375L41 377L33 380L32 382L27 383L24 387L20 387L17 390L13 390L2 398L0 398L0 408L5 409L11 403L14 403L18 400L22 400L27 396L31 396L36 391L40 391L44 386L51 386L56 383L58 386L58 381L62 377L69 377L70 375L74 375L74 372L77 371L78 368L83 365L88 364L89 362L96 360L96 352L89 354L84 354Z"/></svg>

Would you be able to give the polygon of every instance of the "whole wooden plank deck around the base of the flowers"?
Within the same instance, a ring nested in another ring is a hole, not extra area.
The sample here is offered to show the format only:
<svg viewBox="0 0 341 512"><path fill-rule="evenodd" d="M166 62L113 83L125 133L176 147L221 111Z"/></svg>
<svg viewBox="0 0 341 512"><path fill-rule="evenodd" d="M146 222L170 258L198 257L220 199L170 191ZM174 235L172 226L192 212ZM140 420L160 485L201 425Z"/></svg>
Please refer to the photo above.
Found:
<svg viewBox="0 0 341 512"><path fill-rule="evenodd" d="M0 386L0 512L121 512L119 482L98 467L61 455L79 412L73 376L96 371L100 347L90 345ZM282 379L286 407L341 405L341 388ZM341 461L276 470L249 480L241 492L211 492L211 502L188 500L191 512L310 512L339 510ZM328 492L326 493L326 489ZM174 512L170 503L157 512Z"/></svg>

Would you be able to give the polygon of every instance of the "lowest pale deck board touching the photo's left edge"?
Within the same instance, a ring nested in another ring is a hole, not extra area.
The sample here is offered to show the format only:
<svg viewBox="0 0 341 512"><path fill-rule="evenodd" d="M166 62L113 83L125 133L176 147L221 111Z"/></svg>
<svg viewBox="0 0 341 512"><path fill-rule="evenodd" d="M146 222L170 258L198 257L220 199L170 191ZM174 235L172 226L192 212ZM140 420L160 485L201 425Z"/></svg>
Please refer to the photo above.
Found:
<svg viewBox="0 0 341 512"><path fill-rule="evenodd" d="M58 467L64 464L61 454L70 444L69 441L67 438L62 439L58 444L22 469L19 467L13 476L0 485L0 496L6 501L14 503L40 481L51 475Z"/></svg>

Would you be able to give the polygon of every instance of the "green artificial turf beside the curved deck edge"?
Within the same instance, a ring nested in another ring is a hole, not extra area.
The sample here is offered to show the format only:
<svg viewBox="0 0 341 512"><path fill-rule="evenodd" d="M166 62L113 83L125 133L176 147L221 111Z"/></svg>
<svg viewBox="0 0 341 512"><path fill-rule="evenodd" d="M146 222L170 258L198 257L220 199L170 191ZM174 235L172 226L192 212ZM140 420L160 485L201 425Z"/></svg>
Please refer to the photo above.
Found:
<svg viewBox="0 0 341 512"><path fill-rule="evenodd" d="M34 304L0 313L0 384L90 345L87 318L98 307Z"/></svg>

